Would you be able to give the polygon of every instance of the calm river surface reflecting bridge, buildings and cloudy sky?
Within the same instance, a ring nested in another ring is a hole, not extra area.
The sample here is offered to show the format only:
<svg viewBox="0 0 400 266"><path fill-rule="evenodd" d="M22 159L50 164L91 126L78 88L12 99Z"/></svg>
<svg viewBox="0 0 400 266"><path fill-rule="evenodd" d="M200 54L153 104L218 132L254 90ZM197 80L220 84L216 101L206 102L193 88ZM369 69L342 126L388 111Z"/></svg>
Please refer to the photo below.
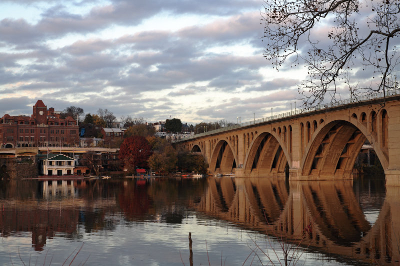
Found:
<svg viewBox="0 0 400 266"><path fill-rule="evenodd" d="M189 232L193 265L279 264L282 245L298 265L398 264L399 195L366 177L0 181L0 265L190 265Z"/></svg>

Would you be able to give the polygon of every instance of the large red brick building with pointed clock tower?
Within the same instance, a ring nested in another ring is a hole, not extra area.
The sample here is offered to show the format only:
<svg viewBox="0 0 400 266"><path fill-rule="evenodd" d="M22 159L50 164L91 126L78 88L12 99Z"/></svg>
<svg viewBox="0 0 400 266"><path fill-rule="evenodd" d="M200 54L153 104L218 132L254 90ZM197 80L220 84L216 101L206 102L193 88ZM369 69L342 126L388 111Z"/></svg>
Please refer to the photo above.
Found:
<svg viewBox="0 0 400 266"><path fill-rule="evenodd" d="M29 116L3 115L0 119L0 148L59 147L79 145L76 120L60 118L60 112L47 109L41 100Z"/></svg>

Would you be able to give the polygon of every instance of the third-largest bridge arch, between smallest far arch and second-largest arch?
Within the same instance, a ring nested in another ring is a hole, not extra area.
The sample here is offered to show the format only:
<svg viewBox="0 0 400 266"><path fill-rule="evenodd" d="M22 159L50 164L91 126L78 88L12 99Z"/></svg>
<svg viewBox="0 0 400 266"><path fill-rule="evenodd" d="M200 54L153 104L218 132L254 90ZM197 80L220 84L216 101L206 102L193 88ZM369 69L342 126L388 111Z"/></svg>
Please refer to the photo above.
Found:
<svg viewBox="0 0 400 266"><path fill-rule="evenodd" d="M232 142L219 140L211 152L209 170L211 173L230 174L237 165L237 156Z"/></svg>

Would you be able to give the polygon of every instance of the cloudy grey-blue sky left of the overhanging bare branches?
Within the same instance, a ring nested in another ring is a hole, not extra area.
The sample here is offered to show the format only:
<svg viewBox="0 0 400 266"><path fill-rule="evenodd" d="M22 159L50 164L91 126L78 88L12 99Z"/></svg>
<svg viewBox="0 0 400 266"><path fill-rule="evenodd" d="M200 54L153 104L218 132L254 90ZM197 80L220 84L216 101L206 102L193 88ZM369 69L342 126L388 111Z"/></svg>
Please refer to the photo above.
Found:
<svg viewBox="0 0 400 266"><path fill-rule="evenodd" d="M41 99L195 124L294 109L306 76L263 58L262 3L2 0L0 111L30 115Z"/></svg>

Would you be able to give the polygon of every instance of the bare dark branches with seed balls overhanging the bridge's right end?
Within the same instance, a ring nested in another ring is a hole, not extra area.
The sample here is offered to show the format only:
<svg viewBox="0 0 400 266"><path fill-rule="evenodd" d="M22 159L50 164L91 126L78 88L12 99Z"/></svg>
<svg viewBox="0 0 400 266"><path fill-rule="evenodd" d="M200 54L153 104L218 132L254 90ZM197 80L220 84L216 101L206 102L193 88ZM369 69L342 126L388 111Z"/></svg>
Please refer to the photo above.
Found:
<svg viewBox="0 0 400 266"><path fill-rule="evenodd" d="M265 0L261 11L264 57L278 69L304 65L298 84L304 107L398 88L399 0ZM353 80L364 73L367 82ZM352 77L352 79L351 79Z"/></svg>

